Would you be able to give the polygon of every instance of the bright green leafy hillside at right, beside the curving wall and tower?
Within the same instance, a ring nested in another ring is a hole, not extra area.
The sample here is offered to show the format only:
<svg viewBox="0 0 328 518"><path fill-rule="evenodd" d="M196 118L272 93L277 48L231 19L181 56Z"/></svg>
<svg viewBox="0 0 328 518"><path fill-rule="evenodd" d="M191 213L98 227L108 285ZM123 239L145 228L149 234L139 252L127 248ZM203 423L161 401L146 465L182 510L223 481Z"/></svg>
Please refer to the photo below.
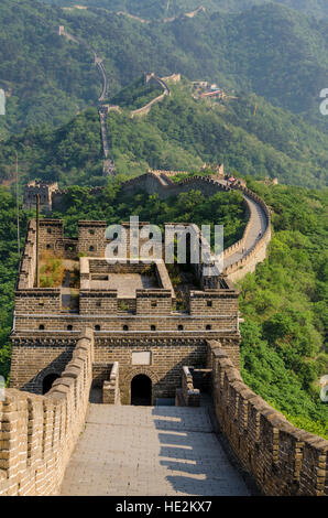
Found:
<svg viewBox="0 0 328 518"><path fill-rule="evenodd" d="M249 181L273 214L269 259L240 283L242 376L296 427L328 436L328 191Z"/></svg>

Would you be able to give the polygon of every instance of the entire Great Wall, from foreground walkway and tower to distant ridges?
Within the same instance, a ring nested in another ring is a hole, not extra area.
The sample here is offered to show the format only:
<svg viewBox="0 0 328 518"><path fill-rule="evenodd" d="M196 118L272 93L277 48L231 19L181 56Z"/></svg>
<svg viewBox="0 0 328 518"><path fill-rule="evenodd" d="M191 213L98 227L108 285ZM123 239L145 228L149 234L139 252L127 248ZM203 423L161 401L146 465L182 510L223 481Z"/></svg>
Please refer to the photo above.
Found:
<svg viewBox="0 0 328 518"><path fill-rule="evenodd" d="M158 80L162 99L170 90ZM109 169L114 174L113 162ZM232 282L265 259L270 209L240 182L193 176L176 183L174 174L149 171L122 188L161 198L238 188L248 215L242 238L225 250L219 277L195 266L183 311L164 263L145 276L132 261L116 270L103 260L106 222L79 222L77 239L64 237L62 220L44 217L39 229L30 222L15 290L10 388L0 401L1 496L250 495L253 484L263 495L328 496L328 441L292 425L239 370ZM101 187L91 192L99 195ZM25 208L36 194L50 216L66 192L31 182ZM134 230L125 226L131 240ZM64 283L35 285L37 231L41 251L62 258L68 278L78 267L77 293ZM149 384L146 398L134 393L140 379Z"/></svg>

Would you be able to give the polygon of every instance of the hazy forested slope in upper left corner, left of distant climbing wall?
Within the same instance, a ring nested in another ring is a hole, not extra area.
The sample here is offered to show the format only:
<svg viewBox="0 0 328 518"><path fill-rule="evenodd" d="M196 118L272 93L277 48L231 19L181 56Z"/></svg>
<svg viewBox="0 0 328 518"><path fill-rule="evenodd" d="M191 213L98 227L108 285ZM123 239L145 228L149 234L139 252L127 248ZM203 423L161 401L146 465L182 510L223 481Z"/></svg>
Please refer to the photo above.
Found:
<svg viewBox="0 0 328 518"><path fill-rule="evenodd" d="M99 96L92 54L57 35L61 12L31 0L0 2L0 87L8 95L0 138L41 122L58 126Z"/></svg>

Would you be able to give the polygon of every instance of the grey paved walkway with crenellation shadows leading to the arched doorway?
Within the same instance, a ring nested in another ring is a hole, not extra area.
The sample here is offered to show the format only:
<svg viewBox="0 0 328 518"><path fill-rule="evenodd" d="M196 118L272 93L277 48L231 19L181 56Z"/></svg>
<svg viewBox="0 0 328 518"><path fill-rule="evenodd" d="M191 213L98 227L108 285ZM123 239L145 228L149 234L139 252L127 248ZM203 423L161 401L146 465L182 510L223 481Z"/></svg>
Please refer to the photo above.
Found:
<svg viewBox="0 0 328 518"><path fill-rule="evenodd" d="M206 408L90 404L62 495L249 495Z"/></svg>

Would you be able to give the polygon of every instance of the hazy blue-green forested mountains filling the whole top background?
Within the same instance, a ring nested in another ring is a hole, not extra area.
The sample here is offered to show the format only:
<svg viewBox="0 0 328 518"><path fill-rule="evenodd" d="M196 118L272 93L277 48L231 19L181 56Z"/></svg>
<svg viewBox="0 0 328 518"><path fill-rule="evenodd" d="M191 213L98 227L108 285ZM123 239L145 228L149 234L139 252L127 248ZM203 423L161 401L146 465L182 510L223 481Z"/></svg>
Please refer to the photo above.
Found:
<svg viewBox="0 0 328 518"><path fill-rule="evenodd" d="M0 138L35 123L59 126L97 104L101 77L92 53L58 36L58 25L105 60L110 95L144 72L179 72L239 95L255 93L327 132L319 94L327 87L328 19L265 3L241 13L201 11L170 23L142 23L103 9L2 0L0 23L0 87L8 96Z"/></svg>

